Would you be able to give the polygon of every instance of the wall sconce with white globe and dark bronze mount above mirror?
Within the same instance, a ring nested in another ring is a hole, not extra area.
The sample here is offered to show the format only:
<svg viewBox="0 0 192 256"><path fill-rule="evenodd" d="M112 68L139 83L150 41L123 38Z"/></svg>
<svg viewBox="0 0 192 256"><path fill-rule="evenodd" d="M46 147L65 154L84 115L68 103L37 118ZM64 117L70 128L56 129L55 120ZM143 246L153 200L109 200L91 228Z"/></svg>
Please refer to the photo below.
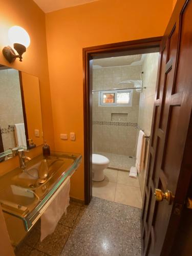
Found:
<svg viewBox="0 0 192 256"><path fill-rule="evenodd" d="M18 55L15 54L14 50L10 46L6 46L3 49L4 57L9 61L9 63L15 61L16 58L19 58L19 61L22 61L22 55L30 45L29 34L22 27L13 26L8 31L8 37Z"/></svg>

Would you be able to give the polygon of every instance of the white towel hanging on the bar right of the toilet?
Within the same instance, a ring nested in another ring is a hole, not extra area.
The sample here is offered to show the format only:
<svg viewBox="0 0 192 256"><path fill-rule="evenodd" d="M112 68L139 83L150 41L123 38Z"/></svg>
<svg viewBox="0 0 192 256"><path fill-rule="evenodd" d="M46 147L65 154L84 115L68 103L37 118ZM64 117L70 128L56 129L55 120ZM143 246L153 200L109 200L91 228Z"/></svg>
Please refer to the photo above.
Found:
<svg viewBox="0 0 192 256"><path fill-rule="evenodd" d="M145 134L143 131L139 131L139 137L137 141L137 154L136 154L136 163L135 167L140 173L144 168L144 156L145 156Z"/></svg>

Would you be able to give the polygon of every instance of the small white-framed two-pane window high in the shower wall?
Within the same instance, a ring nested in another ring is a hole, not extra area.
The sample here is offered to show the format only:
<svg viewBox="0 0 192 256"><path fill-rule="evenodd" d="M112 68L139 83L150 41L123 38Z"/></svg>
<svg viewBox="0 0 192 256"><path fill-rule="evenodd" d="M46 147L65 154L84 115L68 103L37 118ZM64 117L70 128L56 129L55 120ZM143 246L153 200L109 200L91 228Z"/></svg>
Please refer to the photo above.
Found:
<svg viewBox="0 0 192 256"><path fill-rule="evenodd" d="M132 106L133 90L112 90L99 92L100 106Z"/></svg>

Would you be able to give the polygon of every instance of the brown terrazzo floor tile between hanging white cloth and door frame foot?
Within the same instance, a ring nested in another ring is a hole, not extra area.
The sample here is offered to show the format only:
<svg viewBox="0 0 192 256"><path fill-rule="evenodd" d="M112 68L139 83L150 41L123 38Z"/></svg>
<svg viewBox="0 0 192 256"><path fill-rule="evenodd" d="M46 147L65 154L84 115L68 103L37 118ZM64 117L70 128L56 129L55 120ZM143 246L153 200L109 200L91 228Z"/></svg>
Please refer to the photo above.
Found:
<svg viewBox="0 0 192 256"><path fill-rule="evenodd" d="M59 223L68 227L73 227L75 220L79 214L81 206L70 204L67 208L67 215L63 214Z"/></svg>

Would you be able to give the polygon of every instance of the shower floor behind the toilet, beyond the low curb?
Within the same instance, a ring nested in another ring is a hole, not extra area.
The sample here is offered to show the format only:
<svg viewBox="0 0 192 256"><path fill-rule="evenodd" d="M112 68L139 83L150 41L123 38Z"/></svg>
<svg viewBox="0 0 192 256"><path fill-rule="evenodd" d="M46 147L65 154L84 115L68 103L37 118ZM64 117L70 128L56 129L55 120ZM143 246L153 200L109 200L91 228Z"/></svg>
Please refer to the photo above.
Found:
<svg viewBox="0 0 192 256"><path fill-rule="evenodd" d="M130 170L132 166L135 166L135 157L130 158L125 155L118 155L106 152L96 152L95 154L103 155L110 160L109 168L116 168L120 170Z"/></svg>

